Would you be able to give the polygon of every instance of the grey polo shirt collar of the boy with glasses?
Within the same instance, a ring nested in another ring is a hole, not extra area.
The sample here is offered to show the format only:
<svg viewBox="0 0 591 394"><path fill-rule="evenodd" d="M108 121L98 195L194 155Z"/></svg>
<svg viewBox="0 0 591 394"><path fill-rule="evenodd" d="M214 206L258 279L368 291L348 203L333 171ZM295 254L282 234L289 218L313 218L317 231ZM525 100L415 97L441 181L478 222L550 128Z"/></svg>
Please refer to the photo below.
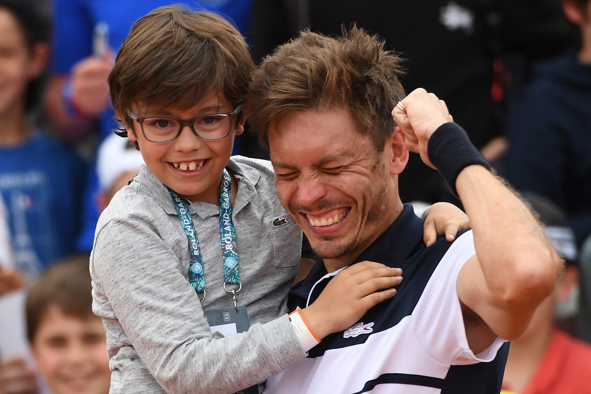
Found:
<svg viewBox="0 0 591 394"><path fill-rule="evenodd" d="M261 178L259 171L247 165L242 165L230 158L226 168L234 174L238 181L238 192L232 207L233 215L239 213L252 199L256 196L256 183ZM164 211L169 215L177 215L176 207L174 206L172 198L168 193L168 188L158 178L152 174L145 164L142 164L139 174L134 178L145 186L148 193L163 207ZM189 205L189 212L197 214L202 220L210 216L217 216L220 213L218 205L203 203L197 201Z"/></svg>

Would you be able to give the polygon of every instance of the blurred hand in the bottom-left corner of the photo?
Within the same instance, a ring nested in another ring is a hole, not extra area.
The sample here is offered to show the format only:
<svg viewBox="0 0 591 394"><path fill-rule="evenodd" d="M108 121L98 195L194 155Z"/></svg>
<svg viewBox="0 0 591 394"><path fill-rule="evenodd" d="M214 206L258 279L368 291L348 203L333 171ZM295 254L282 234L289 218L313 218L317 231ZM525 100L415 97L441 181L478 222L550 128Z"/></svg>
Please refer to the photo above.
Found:
<svg viewBox="0 0 591 394"><path fill-rule="evenodd" d="M37 394L35 373L21 358L9 358L0 364L0 394Z"/></svg>

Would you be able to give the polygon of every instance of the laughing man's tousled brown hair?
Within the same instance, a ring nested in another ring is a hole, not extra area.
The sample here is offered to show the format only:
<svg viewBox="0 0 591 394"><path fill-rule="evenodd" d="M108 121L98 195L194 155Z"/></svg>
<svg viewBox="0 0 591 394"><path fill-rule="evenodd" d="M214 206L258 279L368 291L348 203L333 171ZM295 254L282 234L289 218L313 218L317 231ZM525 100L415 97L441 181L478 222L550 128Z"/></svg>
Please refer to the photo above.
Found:
<svg viewBox="0 0 591 394"><path fill-rule="evenodd" d="M337 38L303 31L255 71L249 122L268 149L269 127L288 113L347 108L381 152L395 127L392 109L404 98L400 61L384 50L384 41L358 27Z"/></svg>

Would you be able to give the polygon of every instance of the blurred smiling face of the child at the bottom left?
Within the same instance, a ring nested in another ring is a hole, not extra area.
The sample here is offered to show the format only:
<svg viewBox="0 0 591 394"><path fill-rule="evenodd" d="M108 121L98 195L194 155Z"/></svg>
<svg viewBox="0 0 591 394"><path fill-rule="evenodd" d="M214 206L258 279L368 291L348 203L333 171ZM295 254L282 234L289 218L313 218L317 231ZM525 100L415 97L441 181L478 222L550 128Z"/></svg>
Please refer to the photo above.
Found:
<svg viewBox="0 0 591 394"><path fill-rule="evenodd" d="M74 317L50 305L31 345L37 367L54 393L109 392L111 370L100 317Z"/></svg>

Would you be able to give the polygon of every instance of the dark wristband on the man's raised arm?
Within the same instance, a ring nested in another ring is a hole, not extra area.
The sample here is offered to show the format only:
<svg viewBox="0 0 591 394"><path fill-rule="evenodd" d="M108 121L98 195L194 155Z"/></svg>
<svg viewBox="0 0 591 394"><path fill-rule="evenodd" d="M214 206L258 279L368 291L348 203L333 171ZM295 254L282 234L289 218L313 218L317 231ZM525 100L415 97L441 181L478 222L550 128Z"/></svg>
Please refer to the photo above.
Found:
<svg viewBox="0 0 591 394"><path fill-rule="evenodd" d="M452 193L457 196L456 178L469 165L479 164L492 171L468 135L456 123L443 123L427 142L429 160L437 168Z"/></svg>

